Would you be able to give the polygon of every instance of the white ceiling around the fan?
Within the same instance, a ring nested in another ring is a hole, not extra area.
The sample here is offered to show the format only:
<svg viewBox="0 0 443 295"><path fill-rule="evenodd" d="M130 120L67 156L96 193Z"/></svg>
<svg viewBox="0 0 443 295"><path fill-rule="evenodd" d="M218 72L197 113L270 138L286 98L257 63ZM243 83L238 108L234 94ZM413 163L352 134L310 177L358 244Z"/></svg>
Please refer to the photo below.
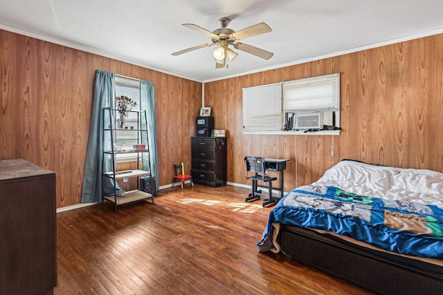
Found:
<svg viewBox="0 0 443 295"><path fill-rule="evenodd" d="M350 53L443 32L441 0L0 0L0 28L208 82ZM261 59L238 51L215 68L215 46L181 26L213 31L229 17L235 31L267 23L272 32L242 43L271 51ZM1 45L0 45L1 46Z"/></svg>

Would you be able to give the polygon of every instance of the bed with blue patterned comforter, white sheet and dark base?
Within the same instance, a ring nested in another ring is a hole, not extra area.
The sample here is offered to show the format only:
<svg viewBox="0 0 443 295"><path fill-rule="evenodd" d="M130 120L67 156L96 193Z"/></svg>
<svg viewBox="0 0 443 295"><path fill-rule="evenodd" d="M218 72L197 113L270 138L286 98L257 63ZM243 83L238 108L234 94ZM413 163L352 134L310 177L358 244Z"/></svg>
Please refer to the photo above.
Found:
<svg viewBox="0 0 443 295"><path fill-rule="evenodd" d="M258 251L378 294L443 294L443 173L343 160L271 210Z"/></svg>

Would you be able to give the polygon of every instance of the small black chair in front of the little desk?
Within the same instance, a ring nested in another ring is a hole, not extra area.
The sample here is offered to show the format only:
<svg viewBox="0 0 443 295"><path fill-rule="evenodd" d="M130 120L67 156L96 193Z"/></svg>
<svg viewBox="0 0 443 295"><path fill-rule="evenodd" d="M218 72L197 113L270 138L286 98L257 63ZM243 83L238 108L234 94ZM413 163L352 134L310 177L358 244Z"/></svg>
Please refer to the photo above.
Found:
<svg viewBox="0 0 443 295"><path fill-rule="evenodd" d="M272 198L272 182L273 180L277 180L277 178L266 175L266 163L264 162L264 158L247 155L244 157L244 164L246 166L246 174L244 177L252 180L252 192L249 193L248 197L245 198L244 201L248 202L254 199L260 200L260 196L268 196L268 199L266 202L262 203L262 206L265 207L269 204L275 204L276 200ZM249 176L248 174L250 172L254 174ZM262 193L261 189L257 189L259 181L268 183L269 193L267 195Z"/></svg>

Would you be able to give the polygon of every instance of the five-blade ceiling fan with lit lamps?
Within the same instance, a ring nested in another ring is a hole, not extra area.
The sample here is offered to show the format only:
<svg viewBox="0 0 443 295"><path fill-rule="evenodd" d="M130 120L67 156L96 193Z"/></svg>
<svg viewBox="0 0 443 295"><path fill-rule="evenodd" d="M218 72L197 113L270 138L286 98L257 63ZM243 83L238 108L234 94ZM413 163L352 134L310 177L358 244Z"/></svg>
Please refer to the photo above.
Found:
<svg viewBox="0 0 443 295"><path fill-rule="evenodd" d="M211 37L211 43L201 44L198 46L194 46L188 49L177 51L177 53L172 53L172 55L177 56L183 53L189 53L190 51L197 50L200 48L205 48L213 45L217 45L217 49L214 50L214 60L215 60L215 68L224 68L226 66L226 56L230 61L233 61L235 57L237 57L238 53L235 53L234 50L228 48L228 46L233 46L233 48L242 50L245 53L250 53L251 55L255 55L257 57L261 57L262 59L270 59L274 54L269 51L237 42L240 39L253 37L255 35L264 34L265 32L271 32L271 28L266 25L266 23L257 23L254 26L250 26L248 28L244 28L243 30L239 30L235 32L230 28L226 28L230 19L227 17L222 17L219 19L218 23L221 28L210 32L204 28L201 28L194 23L183 23L182 26L186 28L190 28L192 30L196 30L197 32L201 32L204 35Z"/></svg>

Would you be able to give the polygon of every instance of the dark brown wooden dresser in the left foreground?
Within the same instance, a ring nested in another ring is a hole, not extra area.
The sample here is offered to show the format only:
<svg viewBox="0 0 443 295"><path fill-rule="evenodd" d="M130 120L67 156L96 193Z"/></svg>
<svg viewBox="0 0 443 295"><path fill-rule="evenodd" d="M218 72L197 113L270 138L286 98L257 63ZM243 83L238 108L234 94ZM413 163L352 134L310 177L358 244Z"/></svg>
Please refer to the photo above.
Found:
<svg viewBox="0 0 443 295"><path fill-rule="evenodd" d="M0 160L0 294L53 294L55 173Z"/></svg>

